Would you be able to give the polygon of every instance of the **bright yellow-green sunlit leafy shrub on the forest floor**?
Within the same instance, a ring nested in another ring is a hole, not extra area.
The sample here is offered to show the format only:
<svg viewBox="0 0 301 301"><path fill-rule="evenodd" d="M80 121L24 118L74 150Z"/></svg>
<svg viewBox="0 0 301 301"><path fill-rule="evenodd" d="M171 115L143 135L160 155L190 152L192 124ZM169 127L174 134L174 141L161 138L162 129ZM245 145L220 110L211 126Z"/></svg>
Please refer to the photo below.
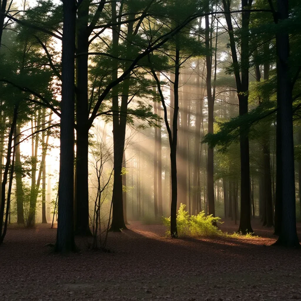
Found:
<svg viewBox="0 0 301 301"><path fill-rule="evenodd" d="M212 215L205 215L205 212L200 212L197 216L189 216L189 213L185 210L186 205L180 205L177 213L177 229L179 237L197 237L197 236L222 236L223 233L216 226L214 222L220 222L219 217L213 217ZM163 217L163 224L167 227L167 234L170 234L170 217Z"/></svg>

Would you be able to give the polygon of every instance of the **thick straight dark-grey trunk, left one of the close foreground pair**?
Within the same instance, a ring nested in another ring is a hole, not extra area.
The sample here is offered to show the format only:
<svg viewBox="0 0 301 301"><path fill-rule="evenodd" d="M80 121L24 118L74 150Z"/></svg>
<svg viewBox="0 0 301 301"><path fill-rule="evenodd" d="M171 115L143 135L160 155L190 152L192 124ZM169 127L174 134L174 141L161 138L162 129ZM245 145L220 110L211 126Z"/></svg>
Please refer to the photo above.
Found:
<svg viewBox="0 0 301 301"><path fill-rule="evenodd" d="M63 1L61 153L56 252L76 251L74 242L74 54L76 2Z"/></svg>

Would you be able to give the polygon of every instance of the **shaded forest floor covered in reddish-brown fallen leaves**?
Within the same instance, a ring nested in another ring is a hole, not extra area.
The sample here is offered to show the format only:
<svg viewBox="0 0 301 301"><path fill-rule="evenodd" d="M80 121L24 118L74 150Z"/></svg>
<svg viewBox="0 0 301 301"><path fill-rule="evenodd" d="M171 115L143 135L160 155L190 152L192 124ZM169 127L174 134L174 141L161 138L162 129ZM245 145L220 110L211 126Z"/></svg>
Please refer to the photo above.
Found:
<svg viewBox="0 0 301 301"><path fill-rule="evenodd" d="M51 253L56 229L10 225L0 247L1 301L297 300L301 251L270 247L272 229L252 222L259 238L177 239L162 225L131 222L109 233L113 253ZM231 233L234 222L220 226ZM298 224L301 238L301 224Z"/></svg>

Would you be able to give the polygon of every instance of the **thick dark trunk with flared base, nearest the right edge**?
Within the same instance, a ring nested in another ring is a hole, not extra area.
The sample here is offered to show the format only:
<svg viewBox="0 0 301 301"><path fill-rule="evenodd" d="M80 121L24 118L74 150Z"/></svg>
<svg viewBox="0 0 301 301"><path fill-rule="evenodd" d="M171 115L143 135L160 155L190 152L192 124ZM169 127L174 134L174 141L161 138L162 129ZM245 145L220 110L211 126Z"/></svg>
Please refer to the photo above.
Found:
<svg viewBox="0 0 301 301"><path fill-rule="evenodd" d="M286 21L289 18L288 0L277 1L278 11L275 22ZM277 173L281 172L281 231L276 244L287 247L300 247L296 231L296 195L294 170L294 141L293 141L293 107L292 82L290 76L290 42L285 29L276 33L276 69L277 69L277 104L280 118L279 136L281 138L281 166L277 166ZM285 150L285 151L284 151ZM277 188L277 185L276 185Z"/></svg>

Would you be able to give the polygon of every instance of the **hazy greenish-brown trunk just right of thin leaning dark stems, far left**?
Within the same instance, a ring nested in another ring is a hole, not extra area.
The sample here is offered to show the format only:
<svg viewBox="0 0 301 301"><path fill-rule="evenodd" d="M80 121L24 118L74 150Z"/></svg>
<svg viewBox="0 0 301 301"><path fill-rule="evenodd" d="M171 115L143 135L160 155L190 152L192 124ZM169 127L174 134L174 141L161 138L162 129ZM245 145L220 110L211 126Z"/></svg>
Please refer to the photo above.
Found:
<svg viewBox="0 0 301 301"><path fill-rule="evenodd" d="M15 175L16 175L16 199L17 199L17 223L24 224L24 193L22 182L22 162L20 154L20 123L16 127L16 155L15 155Z"/></svg>

